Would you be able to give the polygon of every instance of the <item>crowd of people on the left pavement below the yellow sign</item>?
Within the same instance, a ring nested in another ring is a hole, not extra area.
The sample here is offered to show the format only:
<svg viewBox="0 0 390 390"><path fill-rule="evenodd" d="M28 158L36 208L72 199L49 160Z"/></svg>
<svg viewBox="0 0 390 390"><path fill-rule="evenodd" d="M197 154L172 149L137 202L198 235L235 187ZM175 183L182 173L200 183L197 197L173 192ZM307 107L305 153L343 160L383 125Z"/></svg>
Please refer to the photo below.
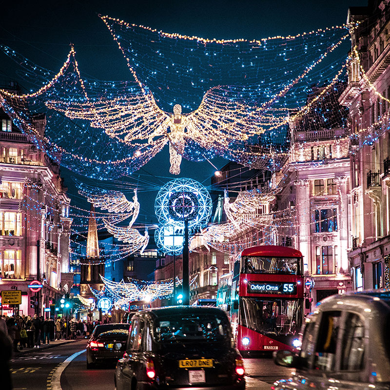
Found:
<svg viewBox="0 0 390 390"><path fill-rule="evenodd" d="M0 331L12 340L14 352L23 348L39 348L41 344L50 344L54 340L75 340L77 336L91 334L92 322L75 318L44 318L34 314L0 317ZM18 349L19 348L19 349Z"/></svg>

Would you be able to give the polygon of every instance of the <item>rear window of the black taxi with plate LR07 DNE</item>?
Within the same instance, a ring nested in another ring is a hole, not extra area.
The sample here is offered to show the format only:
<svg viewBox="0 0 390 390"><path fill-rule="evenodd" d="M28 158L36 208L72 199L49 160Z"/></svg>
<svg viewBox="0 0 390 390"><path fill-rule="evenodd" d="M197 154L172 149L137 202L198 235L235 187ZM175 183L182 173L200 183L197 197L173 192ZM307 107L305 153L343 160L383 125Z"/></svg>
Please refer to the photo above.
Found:
<svg viewBox="0 0 390 390"><path fill-rule="evenodd" d="M171 315L160 317L154 324L156 342L230 340L227 318L211 314Z"/></svg>

